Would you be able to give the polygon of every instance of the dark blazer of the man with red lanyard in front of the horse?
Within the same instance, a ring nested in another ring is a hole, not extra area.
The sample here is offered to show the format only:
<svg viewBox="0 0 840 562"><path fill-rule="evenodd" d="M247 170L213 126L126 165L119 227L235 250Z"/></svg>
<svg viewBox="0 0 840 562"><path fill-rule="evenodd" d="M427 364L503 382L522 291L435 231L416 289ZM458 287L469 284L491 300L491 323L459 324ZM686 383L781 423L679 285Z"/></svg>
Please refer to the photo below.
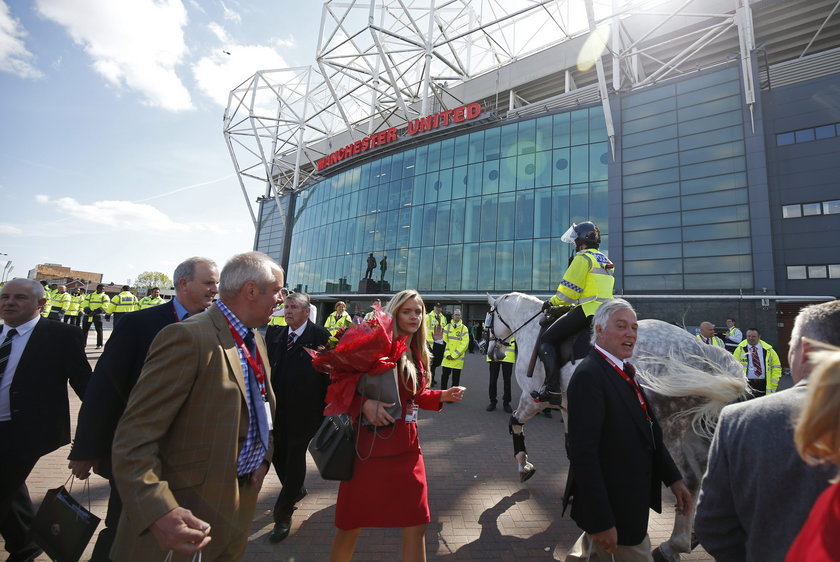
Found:
<svg viewBox="0 0 840 562"><path fill-rule="evenodd" d="M662 510L662 483L681 478L662 430L594 349L575 370L568 400L572 519L587 533L615 526L618 544L637 545L647 533L648 509Z"/></svg>

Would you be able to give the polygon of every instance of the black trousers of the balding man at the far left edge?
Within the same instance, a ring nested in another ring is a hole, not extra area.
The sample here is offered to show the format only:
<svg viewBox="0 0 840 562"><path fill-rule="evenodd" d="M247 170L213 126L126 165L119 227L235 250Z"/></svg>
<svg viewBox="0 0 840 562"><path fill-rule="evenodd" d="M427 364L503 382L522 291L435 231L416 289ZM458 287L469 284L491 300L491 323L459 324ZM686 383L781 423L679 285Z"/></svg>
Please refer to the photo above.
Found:
<svg viewBox="0 0 840 562"><path fill-rule="evenodd" d="M10 555L21 556L38 548L29 539L35 508L26 487L26 479L38 459L19 458L10 451L11 426L11 422L0 422L0 448L3 450L0 462L0 536Z"/></svg>

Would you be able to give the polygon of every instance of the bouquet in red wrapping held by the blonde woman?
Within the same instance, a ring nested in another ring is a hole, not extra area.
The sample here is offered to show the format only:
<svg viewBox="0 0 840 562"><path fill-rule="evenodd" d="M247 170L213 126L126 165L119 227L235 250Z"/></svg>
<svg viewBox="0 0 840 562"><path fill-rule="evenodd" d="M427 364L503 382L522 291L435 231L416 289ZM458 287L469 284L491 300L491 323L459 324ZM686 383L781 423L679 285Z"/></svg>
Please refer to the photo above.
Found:
<svg viewBox="0 0 840 562"><path fill-rule="evenodd" d="M350 409L362 375L378 375L397 366L407 348L405 337L394 338L393 322L382 307L374 305L373 318L336 334L338 341L332 348L306 350L312 367L330 376L325 416Z"/></svg>

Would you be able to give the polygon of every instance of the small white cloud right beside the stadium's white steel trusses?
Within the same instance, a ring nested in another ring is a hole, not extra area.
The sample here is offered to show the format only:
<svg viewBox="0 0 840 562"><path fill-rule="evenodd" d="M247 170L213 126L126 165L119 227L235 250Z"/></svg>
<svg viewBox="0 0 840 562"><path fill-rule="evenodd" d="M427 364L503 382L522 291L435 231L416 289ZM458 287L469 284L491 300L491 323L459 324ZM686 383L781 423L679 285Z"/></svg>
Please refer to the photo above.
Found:
<svg viewBox="0 0 840 562"><path fill-rule="evenodd" d="M222 26L211 23L208 27L221 45L192 70L201 91L221 107L227 107L230 91L256 71L288 66L272 47L236 44Z"/></svg>

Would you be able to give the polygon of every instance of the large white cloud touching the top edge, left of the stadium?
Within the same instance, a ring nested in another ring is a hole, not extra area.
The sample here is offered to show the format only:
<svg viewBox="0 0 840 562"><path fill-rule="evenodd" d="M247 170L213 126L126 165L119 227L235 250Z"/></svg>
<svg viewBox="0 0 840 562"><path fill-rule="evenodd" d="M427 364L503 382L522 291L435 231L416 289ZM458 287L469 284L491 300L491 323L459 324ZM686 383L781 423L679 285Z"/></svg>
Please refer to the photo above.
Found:
<svg viewBox="0 0 840 562"><path fill-rule="evenodd" d="M139 92L148 105L192 109L175 73L184 62L187 11L180 0L37 0L38 11L63 26L110 84Z"/></svg>

